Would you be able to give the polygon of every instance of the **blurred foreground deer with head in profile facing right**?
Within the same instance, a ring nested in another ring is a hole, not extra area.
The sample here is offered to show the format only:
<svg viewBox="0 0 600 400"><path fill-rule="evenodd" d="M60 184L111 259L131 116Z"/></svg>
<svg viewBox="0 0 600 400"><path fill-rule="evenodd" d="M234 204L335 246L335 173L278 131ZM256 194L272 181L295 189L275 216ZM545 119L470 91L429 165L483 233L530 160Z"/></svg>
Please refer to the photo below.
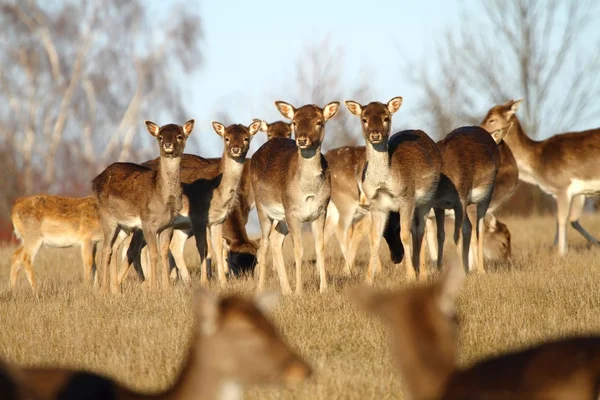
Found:
<svg viewBox="0 0 600 400"><path fill-rule="evenodd" d="M311 375L311 367L263 314L276 300L271 292L249 301L196 291L186 360L173 385L161 393L134 392L83 370L23 369L22 382L39 400L241 399L251 385L300 383Z"/></svg>

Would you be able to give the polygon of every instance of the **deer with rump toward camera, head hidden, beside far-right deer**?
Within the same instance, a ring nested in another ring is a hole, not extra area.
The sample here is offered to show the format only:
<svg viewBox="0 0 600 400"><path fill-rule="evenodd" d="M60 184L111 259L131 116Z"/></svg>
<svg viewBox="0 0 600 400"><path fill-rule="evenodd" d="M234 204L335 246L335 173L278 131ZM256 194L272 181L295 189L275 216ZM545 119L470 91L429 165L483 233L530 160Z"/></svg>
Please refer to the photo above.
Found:
<svg viewBox="0 0 600 400"><path fill-rule="evenodd" d="M465 269L469 269L469 246L477 241L476 267L485 272L483 257L483 218L494 190L496 175L500 168L500 152L497 143L483 128L466 126L450 132L437 143L443 159L440 182L435 194L434 210L437 226L438 268L441 267L444 250L445 210L454 211L454 243ZM475 235L467 215L467 206L476 205Z"/></svg>

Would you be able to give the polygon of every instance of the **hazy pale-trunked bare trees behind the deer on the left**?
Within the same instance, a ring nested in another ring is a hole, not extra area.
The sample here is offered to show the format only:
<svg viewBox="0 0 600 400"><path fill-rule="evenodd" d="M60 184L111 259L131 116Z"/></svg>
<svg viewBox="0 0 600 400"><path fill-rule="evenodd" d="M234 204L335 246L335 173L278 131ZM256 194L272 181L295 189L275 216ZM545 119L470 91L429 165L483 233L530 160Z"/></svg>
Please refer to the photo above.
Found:
<svg viewBox="0 0 600 400"><path fill-rule="evenodd" d="M135 157L142 119L185 118L172 76L199 65L199 21L178 5L150 15L142 0L2 1L0 144L24 192L76 172L89 186L107 163Z"/></svg>

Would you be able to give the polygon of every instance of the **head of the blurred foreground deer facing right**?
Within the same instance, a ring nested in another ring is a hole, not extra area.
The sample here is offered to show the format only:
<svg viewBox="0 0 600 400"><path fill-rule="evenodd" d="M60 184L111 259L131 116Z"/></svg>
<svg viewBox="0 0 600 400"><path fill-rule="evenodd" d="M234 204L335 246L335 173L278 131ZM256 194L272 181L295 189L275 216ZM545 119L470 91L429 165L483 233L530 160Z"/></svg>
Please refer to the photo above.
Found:
<svg viewBox="0 0 600 400"><path fill-rule="evenodd" d="M310 376L310 366L263 315L278 300L276 291L250 301L237 296L217 299L208 290L198 289L194 296L196 334L204 343L195 347L198 358L211 360L213 372L244 386L296 383Z"/></svg>

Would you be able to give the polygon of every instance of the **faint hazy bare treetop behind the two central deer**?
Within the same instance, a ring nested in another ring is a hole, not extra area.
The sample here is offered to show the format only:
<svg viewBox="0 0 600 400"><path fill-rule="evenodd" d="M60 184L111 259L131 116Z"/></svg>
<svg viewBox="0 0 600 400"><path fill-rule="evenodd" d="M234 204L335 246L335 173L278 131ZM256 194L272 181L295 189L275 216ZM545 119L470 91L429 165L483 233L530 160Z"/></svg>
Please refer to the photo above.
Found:
<svg viewBox="0 0 600 400"><path fill-rule="evenodd" d="M307 47L297 62L295 104L314 103L324 106L330 101L354 99L371 101L365 81L355 86L347 85L344 71L344 50L332 43L330 37L321 43ZM342 145L358 145L362 142L360 125L349 113L341 112L327 123L324 150Z"/></svg>

